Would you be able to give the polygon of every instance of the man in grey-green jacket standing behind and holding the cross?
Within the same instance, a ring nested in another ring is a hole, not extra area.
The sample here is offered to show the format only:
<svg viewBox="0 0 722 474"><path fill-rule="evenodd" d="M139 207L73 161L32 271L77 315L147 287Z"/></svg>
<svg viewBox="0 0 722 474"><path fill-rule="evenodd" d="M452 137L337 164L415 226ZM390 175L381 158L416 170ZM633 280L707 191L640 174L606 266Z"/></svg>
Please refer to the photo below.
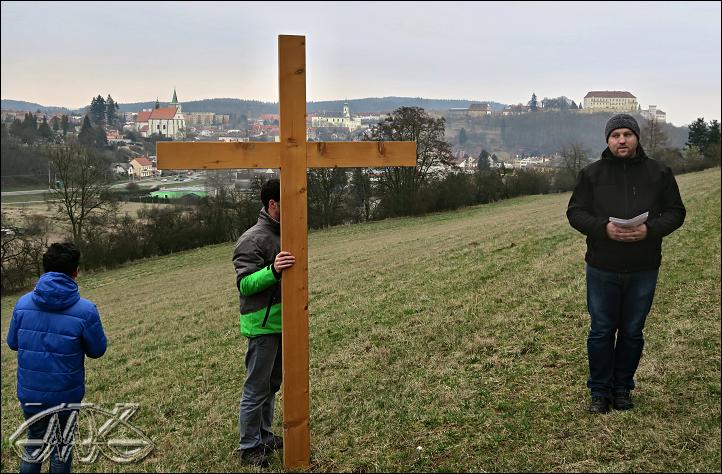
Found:
<svg viewBox="0 0 722 474"><path fill-rule="evenodd" d="M241 302L241 333L248 338L246 382L238 424L241 459L267 467L268 455L283 447L271 432L276 392L281 388L281 273L296 259L281 252L281 187L277 179L261 188L263 209L256 225L243 233L233 251Z"/></svg>

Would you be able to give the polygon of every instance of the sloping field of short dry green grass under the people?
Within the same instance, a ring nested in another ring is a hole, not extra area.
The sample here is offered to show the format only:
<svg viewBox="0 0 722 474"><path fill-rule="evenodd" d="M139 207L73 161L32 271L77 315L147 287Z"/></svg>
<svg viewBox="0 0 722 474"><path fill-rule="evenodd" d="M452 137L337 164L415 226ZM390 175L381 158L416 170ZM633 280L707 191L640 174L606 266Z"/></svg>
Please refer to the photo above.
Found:
<svg viewBox="0 0 722 474"><path fill-rule="evenodd" d="M636 406L608 415L586 413L585 245L568 193L312 232L310 471L719 471L720 170L678 182L687 220L665 239ZM140 403L130 421L156 446L75 470L247 470L231 252L81 275L109 338L86 363L86 401ZM3 338L17 296L2 298ZM18 461L15 370L3 343L3 471Z"/></svg>

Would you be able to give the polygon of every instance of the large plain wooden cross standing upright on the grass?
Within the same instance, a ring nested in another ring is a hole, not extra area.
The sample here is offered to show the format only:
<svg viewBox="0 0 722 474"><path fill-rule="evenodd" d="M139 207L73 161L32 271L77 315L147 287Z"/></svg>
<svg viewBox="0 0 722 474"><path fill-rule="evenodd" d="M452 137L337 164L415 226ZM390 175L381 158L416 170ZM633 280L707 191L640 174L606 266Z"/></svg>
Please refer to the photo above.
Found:
<svg viewBox="0 0 722 474"><path fill-rule="evenodd" d="M280 168L283 272L283 464L310 464L308 168L416 166L416 142L306 142L306 38L279 35L280 143L158 142L159 169Z"/></svg>

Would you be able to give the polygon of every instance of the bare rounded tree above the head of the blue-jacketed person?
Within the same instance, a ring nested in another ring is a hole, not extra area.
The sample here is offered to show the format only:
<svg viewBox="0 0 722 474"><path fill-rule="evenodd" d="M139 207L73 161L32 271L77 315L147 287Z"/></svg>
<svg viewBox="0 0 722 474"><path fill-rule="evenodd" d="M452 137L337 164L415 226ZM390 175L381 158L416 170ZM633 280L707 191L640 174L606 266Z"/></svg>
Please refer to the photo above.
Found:
<svg viewBox="0 0 722 474"><path fill-rule="evenodd" d="M46 199L59 202L58 213L70 225L75 244L82 247L88 219L116 208L110 195L109 163L94 149L76 144L52 148L49 161L55 183Z"/></svg>

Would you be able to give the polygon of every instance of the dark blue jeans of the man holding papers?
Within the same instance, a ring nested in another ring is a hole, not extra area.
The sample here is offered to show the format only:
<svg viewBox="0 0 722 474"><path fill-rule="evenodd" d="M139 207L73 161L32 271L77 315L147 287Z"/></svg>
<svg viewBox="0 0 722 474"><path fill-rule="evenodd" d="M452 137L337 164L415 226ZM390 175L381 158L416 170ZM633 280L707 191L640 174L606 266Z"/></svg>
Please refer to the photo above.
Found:
<svg viewBox="0 0 722 474"><path fill-rule="evenodd" d="M617 273L587 265L587 337L592 396L634 388L644 347L642 330L652 307L659 270Z"/></svg>

